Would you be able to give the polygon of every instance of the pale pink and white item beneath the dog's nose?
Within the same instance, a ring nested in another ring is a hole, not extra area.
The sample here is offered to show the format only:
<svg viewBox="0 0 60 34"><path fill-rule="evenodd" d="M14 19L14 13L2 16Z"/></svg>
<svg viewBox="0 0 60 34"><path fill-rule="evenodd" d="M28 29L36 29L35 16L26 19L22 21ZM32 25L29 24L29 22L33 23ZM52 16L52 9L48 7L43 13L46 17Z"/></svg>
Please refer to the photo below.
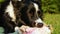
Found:
<svg viewBox="0 0 60 34"><path fill-rule="evenodd" d="M50 30L47 27L27 28L23 34L50 34Z"/></svg>

